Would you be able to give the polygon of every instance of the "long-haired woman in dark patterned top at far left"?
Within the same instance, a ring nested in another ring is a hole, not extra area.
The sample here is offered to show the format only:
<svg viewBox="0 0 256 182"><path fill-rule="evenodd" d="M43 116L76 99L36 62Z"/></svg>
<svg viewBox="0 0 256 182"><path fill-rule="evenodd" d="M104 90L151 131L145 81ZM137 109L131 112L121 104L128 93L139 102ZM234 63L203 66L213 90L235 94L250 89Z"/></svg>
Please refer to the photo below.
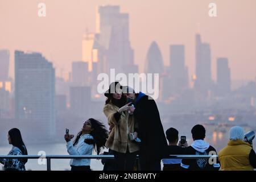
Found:
<svg viewBox="0 0 256 182"><path fill-rule="evenodd" d="M13 148L8 155L27 155L27 148L22 140L19 129L11 129L8 131L9 144ZM0 163L4 166L5 171L26 171L25 164L27 159L0 159Z"/></svg>

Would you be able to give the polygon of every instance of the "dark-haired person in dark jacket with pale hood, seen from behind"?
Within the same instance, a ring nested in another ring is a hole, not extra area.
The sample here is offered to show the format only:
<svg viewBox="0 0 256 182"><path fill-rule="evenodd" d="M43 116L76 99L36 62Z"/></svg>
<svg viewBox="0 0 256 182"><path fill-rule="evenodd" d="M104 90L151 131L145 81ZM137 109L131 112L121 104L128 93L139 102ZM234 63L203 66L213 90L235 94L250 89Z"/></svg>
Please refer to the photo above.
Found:
<svg viewBox="0 0 256 182"><path fill-rule="evenodd" d="M191 133L194 142L191 144L191 146L186 148L185 155L217 155L215 148L204 141L204 126L195 125L192 128ZM220 163L216 158L183 159L180 166L192 171L217 171L220 169Z"/></svg>

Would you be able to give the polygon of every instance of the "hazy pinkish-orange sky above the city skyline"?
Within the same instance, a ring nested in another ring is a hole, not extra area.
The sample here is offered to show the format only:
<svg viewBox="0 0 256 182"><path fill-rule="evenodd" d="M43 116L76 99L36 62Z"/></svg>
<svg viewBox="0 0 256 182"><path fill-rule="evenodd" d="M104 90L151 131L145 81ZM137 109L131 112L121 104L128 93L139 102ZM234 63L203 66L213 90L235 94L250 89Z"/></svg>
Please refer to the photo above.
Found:
<svg viewBox="0 0 256 182"><path fill-rule="evenodd" d="M46 3L45 18L38 17L38 3ZM217 4L217 17L208 15ZM14 75L14 50L42 52L60 70L71 71L72 61L82 59L82 35L95 31L96 6L120 5L130 14L130 40L135 63L143 71L147 49L156 41L168 65L169 46L185 45L189 76L195 73L195 34L212 50L212 76L216 58L228 57L233 79L256 76L255 0L0 0L0 49L10 49Z"/></svg>

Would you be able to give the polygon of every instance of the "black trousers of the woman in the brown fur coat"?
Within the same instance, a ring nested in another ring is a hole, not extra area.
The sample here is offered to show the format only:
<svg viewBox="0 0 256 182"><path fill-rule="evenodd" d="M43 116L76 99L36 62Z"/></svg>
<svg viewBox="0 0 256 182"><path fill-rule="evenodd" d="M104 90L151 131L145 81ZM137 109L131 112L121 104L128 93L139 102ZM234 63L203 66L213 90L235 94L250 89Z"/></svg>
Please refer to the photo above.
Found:
<svg viewBox="0 0 256 182"><path fill-rule="evenodd" d="M128 150L126 154L114 151L115 169L117 171L133 171L137 152L130 153Z"/></svg>

